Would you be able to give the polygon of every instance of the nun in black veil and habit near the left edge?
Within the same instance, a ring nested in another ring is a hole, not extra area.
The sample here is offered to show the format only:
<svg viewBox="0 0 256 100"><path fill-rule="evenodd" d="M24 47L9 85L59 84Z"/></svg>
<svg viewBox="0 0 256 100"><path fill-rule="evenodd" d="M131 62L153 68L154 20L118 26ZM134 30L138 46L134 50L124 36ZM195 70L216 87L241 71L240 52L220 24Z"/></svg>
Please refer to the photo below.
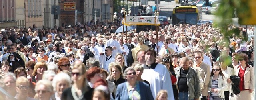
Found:
<svg viewBox="0 0 256 100"><path fill-rule="evenodd" d="M18 53L12 52L10 53L7 61L10 63L10 72L14 72L15 69L18 67L24 67L25 68L25 63L20 57Z"/></svg>

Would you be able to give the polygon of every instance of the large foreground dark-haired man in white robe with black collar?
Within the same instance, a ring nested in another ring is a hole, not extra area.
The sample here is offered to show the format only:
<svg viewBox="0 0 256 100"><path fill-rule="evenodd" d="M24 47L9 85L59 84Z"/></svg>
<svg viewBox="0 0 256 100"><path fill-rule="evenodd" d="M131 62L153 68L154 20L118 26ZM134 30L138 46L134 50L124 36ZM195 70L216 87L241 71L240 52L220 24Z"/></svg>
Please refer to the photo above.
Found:
<svg viewBox="0 0 256 100"><path fill-rule="evenodd" d="M167 100L174 100L168 69L162 64L155 63L156 51L153 48L148 48L144 54L146 64L143 65L144 71L141 78L149 82L154 99L156 99L158 91L164 89L168 92Z"/></svg>

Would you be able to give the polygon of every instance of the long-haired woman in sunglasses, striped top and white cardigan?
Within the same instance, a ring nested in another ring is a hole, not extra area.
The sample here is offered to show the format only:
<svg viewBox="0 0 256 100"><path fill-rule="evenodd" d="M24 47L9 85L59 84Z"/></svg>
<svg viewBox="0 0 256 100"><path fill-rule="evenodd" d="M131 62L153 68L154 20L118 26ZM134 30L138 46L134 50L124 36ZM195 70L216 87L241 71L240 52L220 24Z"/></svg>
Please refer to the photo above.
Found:
<svg viewBox="0 0 256 100"><path fill-rule="evenodd" d="M228 88L227 80L218 64L213 65L210 82L210 100L225 100L224 90Z"/></svg>

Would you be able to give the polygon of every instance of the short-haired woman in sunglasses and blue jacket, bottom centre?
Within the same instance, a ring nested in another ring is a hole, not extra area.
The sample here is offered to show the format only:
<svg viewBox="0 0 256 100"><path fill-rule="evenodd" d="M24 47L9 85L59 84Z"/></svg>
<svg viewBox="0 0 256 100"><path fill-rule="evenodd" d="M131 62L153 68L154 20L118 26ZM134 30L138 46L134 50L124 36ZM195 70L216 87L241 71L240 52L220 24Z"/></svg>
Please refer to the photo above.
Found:
<svg viewBox="0 0 256 100"><path fill-rule="evenodd" d="M132 67L125 69L124 75L127 82L117 86L116 100L154 100L149 85L136 80Z"/></svg>

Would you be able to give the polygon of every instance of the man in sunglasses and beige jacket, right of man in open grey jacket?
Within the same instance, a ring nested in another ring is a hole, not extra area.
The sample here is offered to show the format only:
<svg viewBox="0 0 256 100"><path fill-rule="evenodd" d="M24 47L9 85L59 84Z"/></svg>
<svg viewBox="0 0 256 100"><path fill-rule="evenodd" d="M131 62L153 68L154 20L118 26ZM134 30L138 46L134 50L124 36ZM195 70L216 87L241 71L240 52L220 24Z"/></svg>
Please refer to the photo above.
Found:
<svg viewBox="0 0 256 100"><path fill-rule="evenodd" d="M210 82L210 67L203 62L203 53L200 51L194 52L194 61L193 68L196 69L199 79L203 81L201 84L203 98L201 100L206 100L208 96L208 84Z"/></svg>

